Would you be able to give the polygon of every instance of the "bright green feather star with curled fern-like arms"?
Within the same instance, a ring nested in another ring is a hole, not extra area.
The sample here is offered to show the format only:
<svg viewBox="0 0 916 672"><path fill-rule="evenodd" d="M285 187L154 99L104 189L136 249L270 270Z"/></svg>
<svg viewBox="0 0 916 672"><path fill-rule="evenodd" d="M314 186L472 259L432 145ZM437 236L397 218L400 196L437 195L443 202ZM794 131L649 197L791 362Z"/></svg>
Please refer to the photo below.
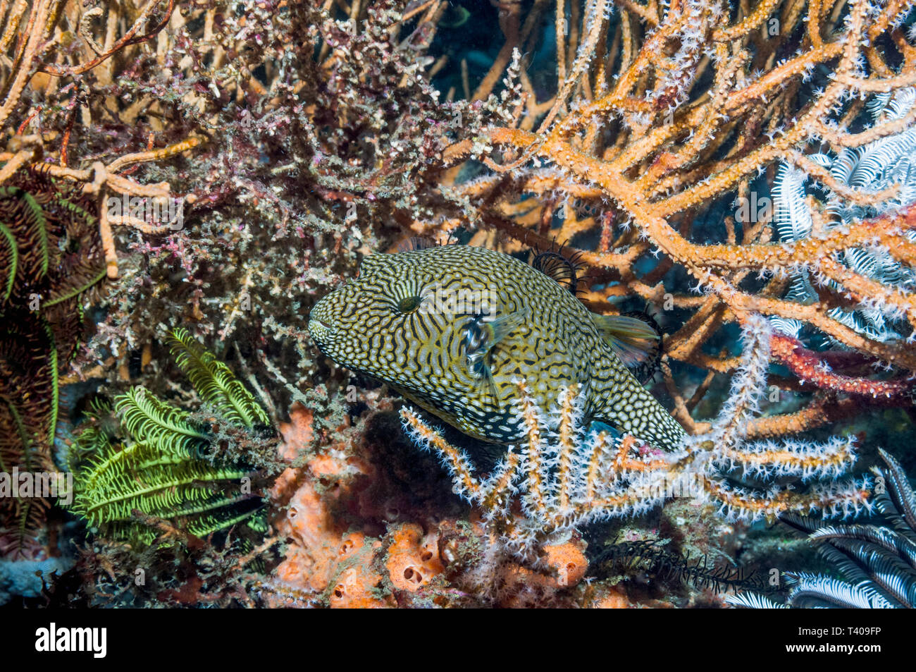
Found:
<svg viewBox="0 0 916 672"><path fill-rule="evenodd" d="M226 421L248 429L269 422L232 371L187 331L175 330L169 343L194 389ZM260 524L258 498L243 487L251 469L208 457L211 436L191 413L142 387L115 397L113 408L117 429L95 422L72 451L83 465L75 469L71 509L100 534L149 545L160 531L147 518L202 537L237 523ZM105 411L98 409L95 420Z"/></svg>

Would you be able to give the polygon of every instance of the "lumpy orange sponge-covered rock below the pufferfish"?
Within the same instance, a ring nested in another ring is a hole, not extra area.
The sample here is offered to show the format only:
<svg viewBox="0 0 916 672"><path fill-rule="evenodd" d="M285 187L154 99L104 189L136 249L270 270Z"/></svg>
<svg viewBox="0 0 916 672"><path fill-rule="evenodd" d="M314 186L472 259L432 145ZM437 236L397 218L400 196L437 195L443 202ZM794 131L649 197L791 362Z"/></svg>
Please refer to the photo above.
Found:
<svg viewBox="0 0 916 672"><path fill-rule="evenodd" d="M300 410L293 420L284 427L287 457L301 446L301 435L311 432L308 413ZM258 587L268 604L346 608L582 602L582 590L576 589L583 588L588 560L575 536L544 545L534 570L508 557L479 517L387 522L402 512L392 515L385 501L366 496L379 471L365 457L369 447L331 446L304 468L289 468L278 478L273 495L289 507L278 534L287 547L285 559ZM376 530L379 534L371 534Z"/></svg>

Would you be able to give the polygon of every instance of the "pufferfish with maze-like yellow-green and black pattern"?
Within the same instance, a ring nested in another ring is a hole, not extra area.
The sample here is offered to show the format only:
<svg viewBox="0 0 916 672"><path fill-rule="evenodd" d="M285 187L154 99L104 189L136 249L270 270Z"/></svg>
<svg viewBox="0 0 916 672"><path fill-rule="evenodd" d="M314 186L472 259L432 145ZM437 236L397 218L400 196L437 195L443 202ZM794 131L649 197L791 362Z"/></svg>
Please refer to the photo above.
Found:
<svg viewBox="0 0 916 672"><path fill-rule="evenodd" d="M550 275L496 250L366 257L354 280L315 304L309 332L338 364L484 441L524 438L518 380L543 417L574 383L589 420L667 450L684 435L622 359L627 344L658 338L654 330L589 312Z"/></svg>

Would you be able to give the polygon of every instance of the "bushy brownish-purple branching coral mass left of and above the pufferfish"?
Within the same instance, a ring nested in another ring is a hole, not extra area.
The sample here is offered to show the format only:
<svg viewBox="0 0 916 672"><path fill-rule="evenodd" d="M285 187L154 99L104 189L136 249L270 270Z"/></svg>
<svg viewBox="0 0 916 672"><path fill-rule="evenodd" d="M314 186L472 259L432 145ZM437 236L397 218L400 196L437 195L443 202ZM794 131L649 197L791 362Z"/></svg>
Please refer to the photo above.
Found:
<svg viewBox="0 0 916 672"><path fill-rule="evenodd" d="M311 389L326 367L305 329L314 297L392 245L401 226L460 224L465 199L446 188L442 153L510 120L518 91L442 100L429 49L446 6L406 4L7 8L3 45L17 67L5 80L15 87L0 117L12 138L0 182L38 164L100 206L169 198L182 212L148 222L104 208L106 270L119 281L80 375L116 370L110 357L123 366L160 324L195 325L196 336L219 337L217 348L234 337L257 374L269 358ZM497 74L517 79L509 61ZM315 387L319 422L333 416L333 427L342 409Z"/></svg>

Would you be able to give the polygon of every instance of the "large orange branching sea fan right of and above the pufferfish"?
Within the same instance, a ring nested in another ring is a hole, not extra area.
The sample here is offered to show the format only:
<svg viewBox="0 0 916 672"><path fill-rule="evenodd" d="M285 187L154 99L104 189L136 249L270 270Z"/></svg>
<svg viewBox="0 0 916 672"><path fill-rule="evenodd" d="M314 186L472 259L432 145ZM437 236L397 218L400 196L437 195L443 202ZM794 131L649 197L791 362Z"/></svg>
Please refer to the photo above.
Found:
<svg viewBox="0 0 916 672"><path fill-rule="evenodd" d="M845 376L842 386L802 379L823 394L758 425L767 435L833 421L825 397L855 395L839 400L847 414L910 406L916 370L893 336L916 324L907 280L916 268L908 168L916 51L904 29L912 8L859 0L809 9L684 0L612 11L589 0L581 30L558 36L558 53L575 58L568 68L559 59L548 114L539 116L544 108L526 89L530 116L487 127L486 143L459 142L444 155L455 165L478 157L492 171L456 185L482 225L477 240L509 251L571 240L598 280L583 294L594 310L638 296L659 306L663 321L676 318L665 347L671 362L732 374L733 353L703 346L755 313L857 354L833 371ZM790 223L806 233L773 242ZM683 292L685 274L707 293ZM816 287L791 284L806 275ZM794 348L780 345L774 356L795 374ZM833 354L818 358L826 365ZM861 361L893 373L878 378L856 368ZM693 427L690 413L713 378L692 397L685 378L666 371L677 415ZM799 388L792 378L775 382Z"/></svg>

